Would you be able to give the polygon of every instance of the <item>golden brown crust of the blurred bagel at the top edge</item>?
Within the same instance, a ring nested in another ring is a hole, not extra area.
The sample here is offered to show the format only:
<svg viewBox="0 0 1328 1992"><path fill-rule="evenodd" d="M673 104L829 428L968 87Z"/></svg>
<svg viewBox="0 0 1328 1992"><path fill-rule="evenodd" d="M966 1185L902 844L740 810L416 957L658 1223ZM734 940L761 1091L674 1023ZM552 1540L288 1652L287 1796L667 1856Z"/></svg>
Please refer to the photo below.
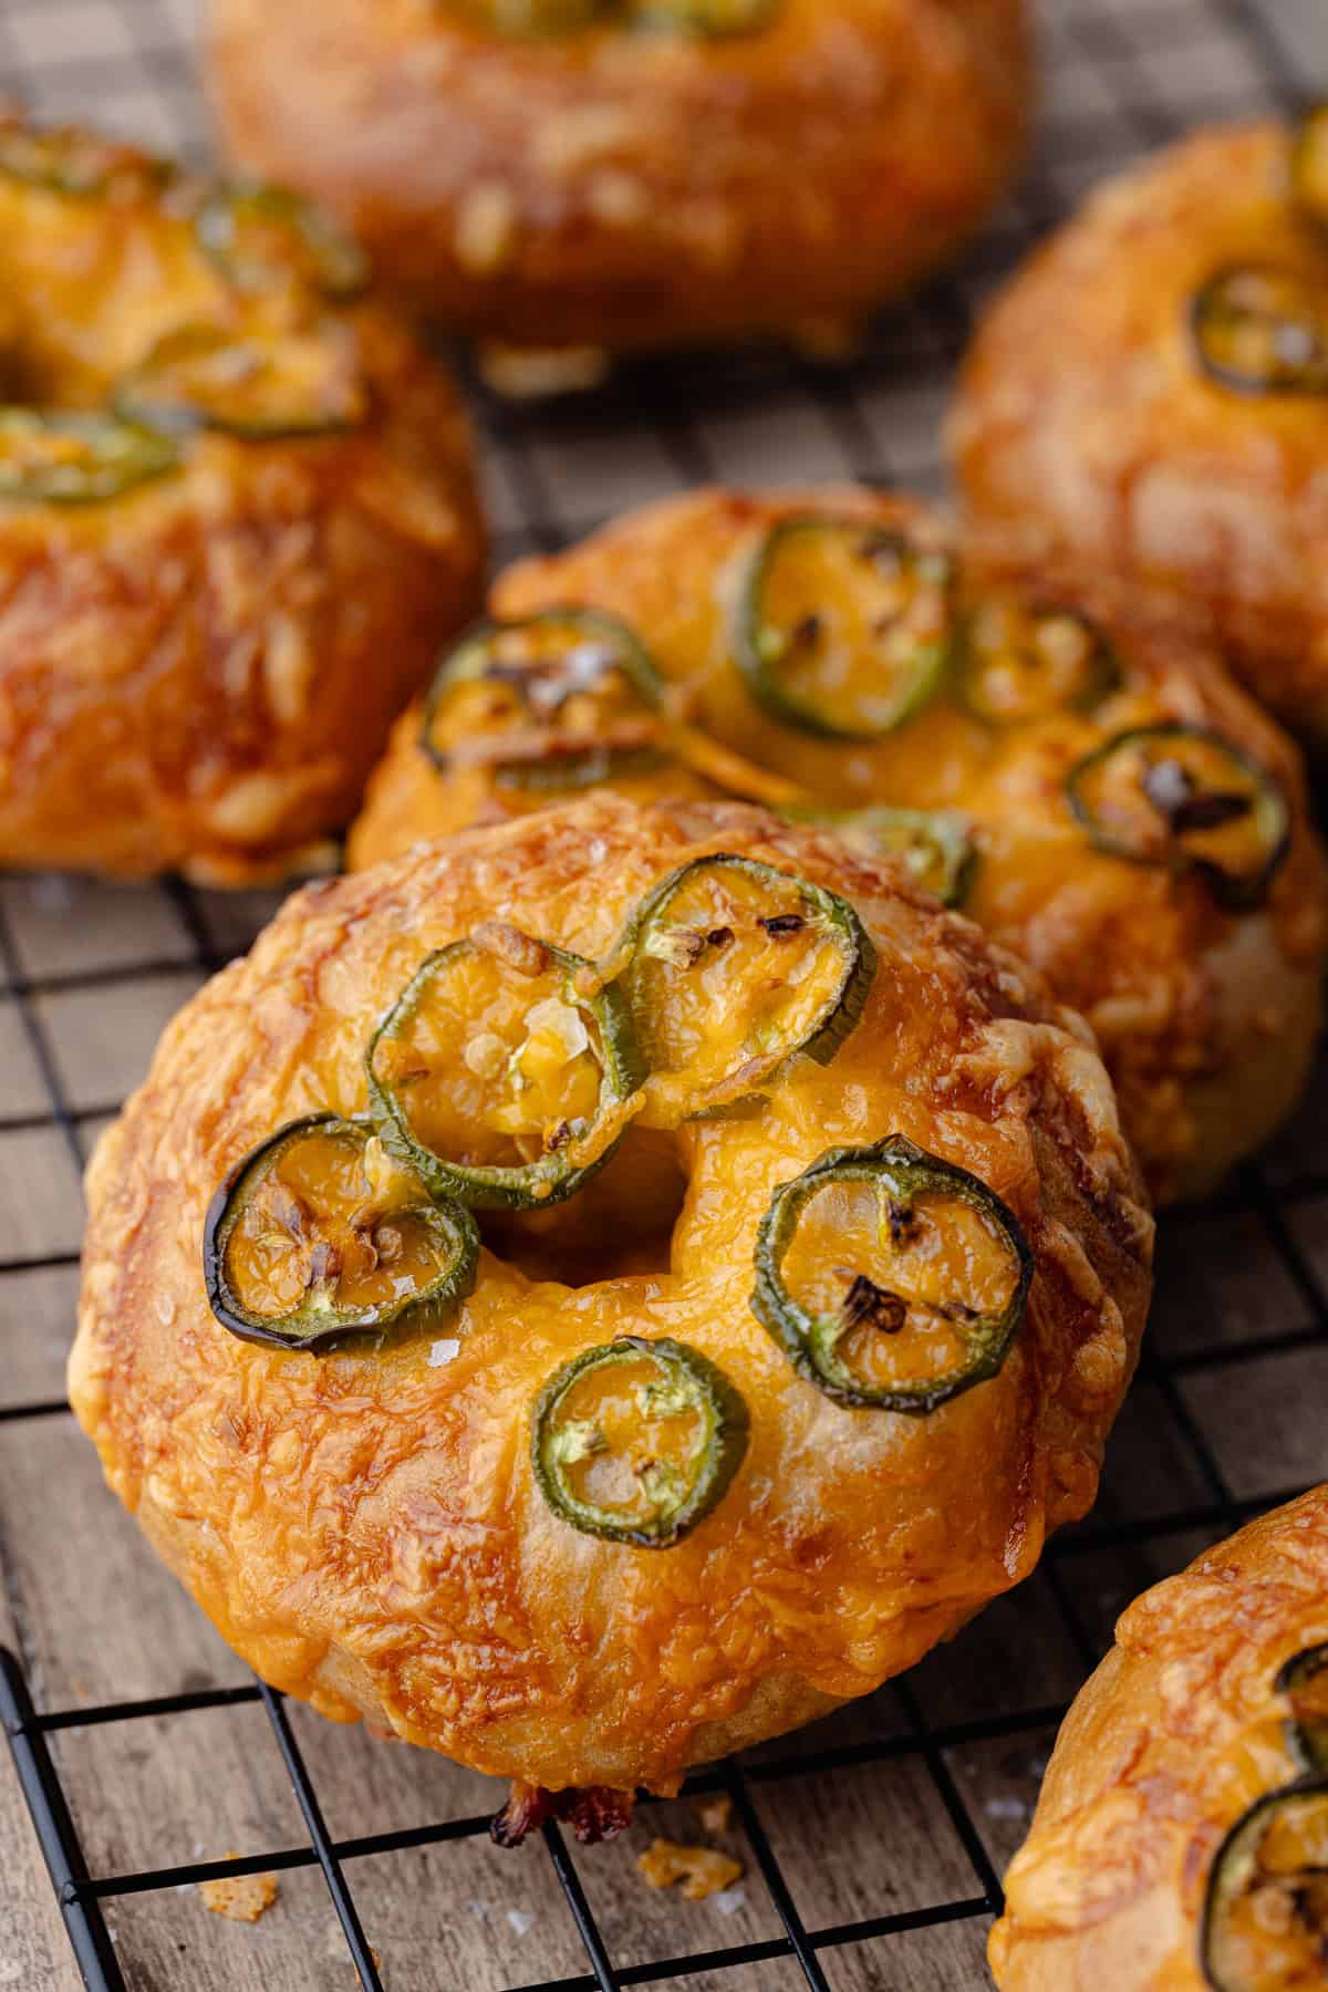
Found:
<svg viewBox="0 0 1328 1992"><path fill-rule="evenodd" d="M782 0L715 42L215 0L211 74L245 163L442 323L542 349L852 325L988 211L1031 98L1021 0Z"/></svg>

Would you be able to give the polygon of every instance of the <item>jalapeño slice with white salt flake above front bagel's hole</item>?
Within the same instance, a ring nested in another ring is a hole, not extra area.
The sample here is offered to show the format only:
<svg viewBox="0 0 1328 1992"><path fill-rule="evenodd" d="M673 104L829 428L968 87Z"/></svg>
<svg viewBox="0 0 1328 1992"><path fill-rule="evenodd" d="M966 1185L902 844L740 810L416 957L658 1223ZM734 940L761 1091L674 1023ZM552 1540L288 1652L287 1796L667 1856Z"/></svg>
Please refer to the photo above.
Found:
<svg viewBox="0 0 1328 1992"><path fill-rule="evenodd" d="M641 1078L619 992L502 920L428 956L366 1064L384 1141L480 1209L571 1197L617 1147Z"/></svg>

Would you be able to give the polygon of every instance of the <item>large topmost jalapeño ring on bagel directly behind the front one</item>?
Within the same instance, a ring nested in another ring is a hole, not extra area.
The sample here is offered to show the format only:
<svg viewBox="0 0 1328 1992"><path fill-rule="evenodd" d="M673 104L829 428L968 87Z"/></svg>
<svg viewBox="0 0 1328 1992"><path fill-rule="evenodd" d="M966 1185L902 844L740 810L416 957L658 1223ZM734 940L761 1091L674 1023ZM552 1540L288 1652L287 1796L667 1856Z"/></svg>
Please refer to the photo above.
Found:
<svg viewBox="0 0 1328 1992"><path fill-rule="evenodd" d="M737 661L784 725L874 741L938 691L952 647L954 562L900 532L790 518L757 548Z"/></svg>

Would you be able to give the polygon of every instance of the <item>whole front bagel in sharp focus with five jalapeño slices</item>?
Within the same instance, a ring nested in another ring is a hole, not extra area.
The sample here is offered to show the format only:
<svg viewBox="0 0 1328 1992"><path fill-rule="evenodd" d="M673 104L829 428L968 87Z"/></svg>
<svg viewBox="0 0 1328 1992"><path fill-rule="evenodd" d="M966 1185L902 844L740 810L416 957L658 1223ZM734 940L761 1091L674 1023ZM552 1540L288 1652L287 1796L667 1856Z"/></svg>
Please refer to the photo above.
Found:
<svg viewBox="0 0 1328 1992"><path fill-rule="evenodd" d="M90 1165L72 1404L265 1679L593 1833L1083 1514L1141 1193L968 920L595 795L307 886L183 1008Z"/></svg>

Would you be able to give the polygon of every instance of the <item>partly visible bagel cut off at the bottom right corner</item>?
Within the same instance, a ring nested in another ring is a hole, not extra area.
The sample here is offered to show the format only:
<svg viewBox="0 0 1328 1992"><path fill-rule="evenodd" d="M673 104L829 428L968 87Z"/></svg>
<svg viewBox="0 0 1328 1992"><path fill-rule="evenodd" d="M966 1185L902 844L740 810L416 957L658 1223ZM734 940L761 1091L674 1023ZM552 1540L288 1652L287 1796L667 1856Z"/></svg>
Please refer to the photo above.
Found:
<svg viewBox="0 0 1328 1992"><path fill-rule="evenodd" d="M1328 1488L1137 1598L1057 1739L1001 1992L1272 1992L1328 1948Z"/></svg>

